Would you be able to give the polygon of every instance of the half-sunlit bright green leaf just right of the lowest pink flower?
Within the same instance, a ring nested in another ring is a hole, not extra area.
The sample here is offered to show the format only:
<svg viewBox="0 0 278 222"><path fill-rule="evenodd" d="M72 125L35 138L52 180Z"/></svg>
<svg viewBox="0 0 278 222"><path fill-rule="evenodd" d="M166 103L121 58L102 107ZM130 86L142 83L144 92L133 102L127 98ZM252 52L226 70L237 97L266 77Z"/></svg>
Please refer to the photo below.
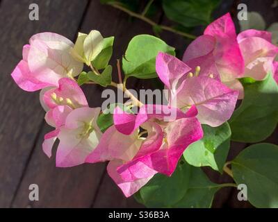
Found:
<svg viewBox="0 0 278 222"><path fill-rule="evenodd" d="M190 144L183 156L195 167L209 166L222 173L230 147L231 130L229 123L211 127L202 125L204 137Z"/></svg>

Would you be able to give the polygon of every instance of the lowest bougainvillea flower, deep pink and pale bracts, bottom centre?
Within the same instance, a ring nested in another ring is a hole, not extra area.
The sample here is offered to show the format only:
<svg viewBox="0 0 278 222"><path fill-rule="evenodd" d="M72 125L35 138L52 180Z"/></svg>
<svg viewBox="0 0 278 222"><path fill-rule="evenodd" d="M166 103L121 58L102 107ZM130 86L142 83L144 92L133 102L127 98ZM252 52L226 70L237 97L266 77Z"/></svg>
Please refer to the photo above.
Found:
<svg viewBox="0 0 278 222"><path fill-rule="evenodd" d="M157 172L170 176L185 148L202 137L196 114L195 107L183 113L163 105L144 105L137 115L116 108L115 126L106 130L85 161L110 161L108 174L125 196L131 196ZM145 139L138 135L139 126L146 130Z"/></svg>

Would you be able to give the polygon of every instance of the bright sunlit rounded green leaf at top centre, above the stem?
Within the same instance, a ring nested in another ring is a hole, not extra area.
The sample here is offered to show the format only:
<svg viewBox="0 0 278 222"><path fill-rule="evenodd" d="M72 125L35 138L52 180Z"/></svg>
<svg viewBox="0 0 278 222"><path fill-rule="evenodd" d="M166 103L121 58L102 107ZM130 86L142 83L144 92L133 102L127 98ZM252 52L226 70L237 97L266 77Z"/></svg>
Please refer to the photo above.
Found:
<svg viewBox="0 0 278 222"><path fill-rule="evenodd" d="M125 76L156 78L156 56L159 51L174 55L174 48L152 35L136 35L127 46L122 60Z"/></svg>

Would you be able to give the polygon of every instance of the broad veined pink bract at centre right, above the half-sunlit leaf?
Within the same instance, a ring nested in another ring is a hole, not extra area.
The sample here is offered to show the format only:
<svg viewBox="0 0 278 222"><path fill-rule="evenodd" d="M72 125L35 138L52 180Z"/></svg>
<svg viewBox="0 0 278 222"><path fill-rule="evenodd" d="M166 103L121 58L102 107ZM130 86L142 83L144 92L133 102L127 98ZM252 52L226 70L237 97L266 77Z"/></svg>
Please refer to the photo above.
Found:
<svg viewBox="0 0 278 222"><path fill-rule="evenodd" d="M220 126L229 120L236 107L238 92L206 76L193 76L181 84L174 101L181 110L195 105L202 124Z"/></svg>

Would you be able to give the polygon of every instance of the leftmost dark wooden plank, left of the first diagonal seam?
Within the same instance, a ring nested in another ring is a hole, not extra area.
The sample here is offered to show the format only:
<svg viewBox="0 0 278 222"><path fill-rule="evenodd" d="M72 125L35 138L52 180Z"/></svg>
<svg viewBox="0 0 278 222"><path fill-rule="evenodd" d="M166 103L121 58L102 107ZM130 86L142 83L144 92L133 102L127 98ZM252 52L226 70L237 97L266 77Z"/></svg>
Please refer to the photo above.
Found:
<svg viewBox="0 0 278 222"><path fill-rule="evenodd" d="M38 3L40 20L30 21L28 7ZM22 58L22 46L42 31L74 37L85 0L3 0L0 7L0 207L9 207L42 125L44 111L38 93L19 89L10 77ZM67 8L63 13L60 8ZM65 22L69 17L75 19Z"/></svg>

